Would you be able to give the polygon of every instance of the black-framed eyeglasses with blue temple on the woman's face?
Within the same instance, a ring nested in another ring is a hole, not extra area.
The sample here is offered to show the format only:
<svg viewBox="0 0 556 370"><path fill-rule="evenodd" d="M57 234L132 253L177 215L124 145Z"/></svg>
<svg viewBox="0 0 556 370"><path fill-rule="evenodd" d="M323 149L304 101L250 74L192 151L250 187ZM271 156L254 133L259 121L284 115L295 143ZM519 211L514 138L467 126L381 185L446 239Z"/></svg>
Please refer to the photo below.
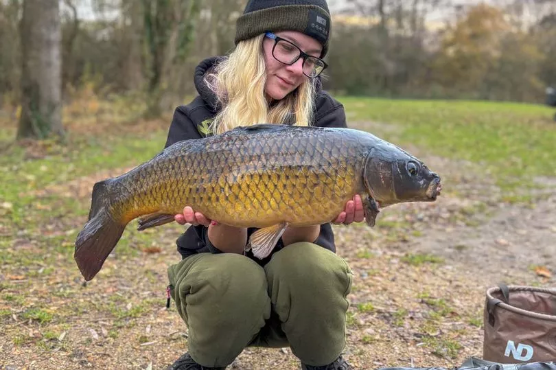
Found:
<svg viewBox="0 0 556 370"><path fill-rule="evenodd" d="M294 43L266 32L264 36L274 40L273 57L285 65L292 65L299 58L303 58L303 74L308 78L316 78L328 67L324 60L310 56L299 49Z"/></svg>

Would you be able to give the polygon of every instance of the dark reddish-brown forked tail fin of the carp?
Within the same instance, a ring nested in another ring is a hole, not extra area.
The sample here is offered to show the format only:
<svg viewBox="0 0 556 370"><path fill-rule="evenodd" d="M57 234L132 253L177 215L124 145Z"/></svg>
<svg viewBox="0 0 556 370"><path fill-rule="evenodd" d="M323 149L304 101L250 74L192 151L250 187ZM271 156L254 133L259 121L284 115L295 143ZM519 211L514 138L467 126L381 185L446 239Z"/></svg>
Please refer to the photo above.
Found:
<svg viewBox="0 0 556 370"><path fill-rule="evenodd" d="M109 180L95 183L89 220L76 239L76 259L81 275L89 281L97 275L104 260L116 246L126 225L116 222L108 208Z"/></svg>

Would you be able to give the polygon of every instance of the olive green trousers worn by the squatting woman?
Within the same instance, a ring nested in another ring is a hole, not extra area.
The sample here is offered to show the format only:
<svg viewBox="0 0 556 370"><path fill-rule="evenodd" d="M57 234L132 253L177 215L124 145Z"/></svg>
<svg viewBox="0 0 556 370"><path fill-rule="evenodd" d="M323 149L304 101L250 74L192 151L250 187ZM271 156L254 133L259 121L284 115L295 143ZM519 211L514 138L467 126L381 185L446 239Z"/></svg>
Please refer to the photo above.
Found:
<svg viewBox="0 0 556 370"><path fill-rule="evenodd" d="M291 347L321 366L345 347L351 270L316 244L290 244L264 268L243 255L200 253L168 277L189 354L202 366L226 367L248 346Z"/></svg>

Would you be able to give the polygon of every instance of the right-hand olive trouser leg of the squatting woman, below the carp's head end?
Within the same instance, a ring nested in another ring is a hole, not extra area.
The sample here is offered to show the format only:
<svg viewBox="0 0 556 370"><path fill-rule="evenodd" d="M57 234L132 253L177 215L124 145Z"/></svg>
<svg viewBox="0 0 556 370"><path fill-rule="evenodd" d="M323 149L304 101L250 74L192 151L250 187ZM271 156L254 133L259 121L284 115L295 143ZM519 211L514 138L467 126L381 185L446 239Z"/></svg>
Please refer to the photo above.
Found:
<svg viewBox="0 0 556 370"><path fill-rule="evenodd" d="M294 243L265 266L270 299L293 353L308 365L325 365L345 347L351 270L332 251Z"/></svg>

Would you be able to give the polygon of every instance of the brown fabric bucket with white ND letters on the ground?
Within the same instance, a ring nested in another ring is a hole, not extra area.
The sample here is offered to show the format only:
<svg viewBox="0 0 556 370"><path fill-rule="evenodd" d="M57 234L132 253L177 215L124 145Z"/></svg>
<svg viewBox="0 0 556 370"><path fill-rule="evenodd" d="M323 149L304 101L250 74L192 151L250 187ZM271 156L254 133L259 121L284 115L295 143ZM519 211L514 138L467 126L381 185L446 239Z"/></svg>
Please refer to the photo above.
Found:
<svg viewBox="0 0 556 370"><path fill-rule="evenodd" d="M487 290L483 358L556 361L556 289L500 284Z"/></svg>

